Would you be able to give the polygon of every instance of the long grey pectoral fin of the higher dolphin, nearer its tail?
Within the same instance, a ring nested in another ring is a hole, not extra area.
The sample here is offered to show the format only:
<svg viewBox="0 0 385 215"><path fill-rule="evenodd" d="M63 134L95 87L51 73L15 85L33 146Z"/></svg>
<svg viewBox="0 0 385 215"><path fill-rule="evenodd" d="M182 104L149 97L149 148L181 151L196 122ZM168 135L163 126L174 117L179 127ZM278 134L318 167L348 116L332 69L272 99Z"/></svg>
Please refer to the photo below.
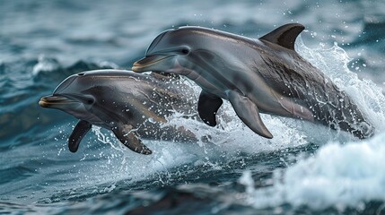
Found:
<svg viewBox="0 0 385 215"><path fill-rule="evenodd" d="M241 118L242 122L259 135L266 138L273 138L273 135L267 130L259 116L258 107L249 98L241 95L241 93L230 90L227 96L232 103L235 113Z"/></svg>

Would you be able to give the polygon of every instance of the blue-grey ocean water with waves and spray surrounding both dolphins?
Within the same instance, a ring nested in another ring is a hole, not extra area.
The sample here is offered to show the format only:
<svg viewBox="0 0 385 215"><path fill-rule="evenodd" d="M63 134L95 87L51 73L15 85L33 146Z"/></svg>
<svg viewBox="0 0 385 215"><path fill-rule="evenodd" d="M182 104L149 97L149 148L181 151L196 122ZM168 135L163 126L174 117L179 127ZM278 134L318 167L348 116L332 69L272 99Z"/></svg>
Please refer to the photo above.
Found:
<svg viewBox="0 0 385 215"><path fill-rule="evenodd" d="M385 214L383 8L381 0L1 1L0 213ZM297 51L354 99L376 127L371 139L263 115L275 134L267 140L225 102L214 128L170 117L214 144L144 141L153 150L144 156L96 127L71 153L77 120L38 105L68 75L129 69L162 30L198 25L258 38L288 22L306 27Z"/></svg>

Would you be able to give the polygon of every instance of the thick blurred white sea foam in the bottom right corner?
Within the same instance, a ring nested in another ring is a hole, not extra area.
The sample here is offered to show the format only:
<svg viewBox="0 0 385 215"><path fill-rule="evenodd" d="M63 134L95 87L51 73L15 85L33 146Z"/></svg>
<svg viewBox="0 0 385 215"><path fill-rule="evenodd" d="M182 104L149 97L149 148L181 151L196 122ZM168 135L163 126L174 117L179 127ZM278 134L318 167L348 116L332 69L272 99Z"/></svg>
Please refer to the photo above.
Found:
<svg viewBox="0 0 385 215"><path fill-rule="evenodd" d="M274 185L247 193L247 202L256 208L283 203L306 205L312 209L385 201L385 133L363 142L330 142L308 159L276 171ZM241 182L249 182L246 172ZM244 185L252 185L243 183Z"/></svg>

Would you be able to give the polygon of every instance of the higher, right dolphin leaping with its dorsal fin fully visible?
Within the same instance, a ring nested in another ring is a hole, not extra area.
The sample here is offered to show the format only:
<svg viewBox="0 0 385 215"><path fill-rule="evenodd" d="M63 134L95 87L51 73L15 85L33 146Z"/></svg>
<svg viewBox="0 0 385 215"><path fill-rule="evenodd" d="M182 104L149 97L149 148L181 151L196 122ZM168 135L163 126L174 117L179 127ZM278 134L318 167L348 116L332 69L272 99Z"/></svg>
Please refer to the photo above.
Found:
<svg viewBox="0 0 385 215"><path fill-rule="evenodd" d="M132 70L177 73L196 82L202 88L197 110L207 125L216 125L216 111L227 99L243 123L266 138L273 135L259 112L370 137L373 126L346 92L294 50L302 30L290 23L260 39L201 27L166 30Z"/></svg>

